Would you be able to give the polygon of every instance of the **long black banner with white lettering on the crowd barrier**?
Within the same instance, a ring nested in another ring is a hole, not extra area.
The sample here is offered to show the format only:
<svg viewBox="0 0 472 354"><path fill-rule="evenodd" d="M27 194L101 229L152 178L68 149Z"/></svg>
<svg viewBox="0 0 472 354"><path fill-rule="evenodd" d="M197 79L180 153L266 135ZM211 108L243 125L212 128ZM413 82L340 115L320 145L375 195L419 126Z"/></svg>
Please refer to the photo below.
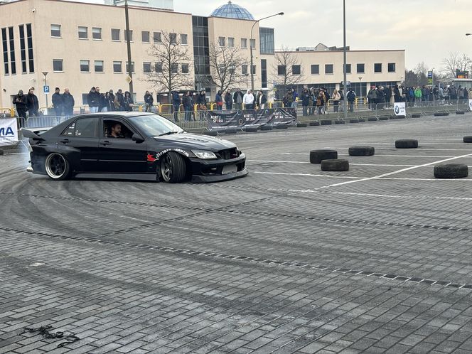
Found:
<svg viewBox="0 0 472 354"><path fill-rule="evenodd" d="M238 129L262 125L291 124L296 121L296 108L246 109L244 111L206 112L208 129Z"/></svg>

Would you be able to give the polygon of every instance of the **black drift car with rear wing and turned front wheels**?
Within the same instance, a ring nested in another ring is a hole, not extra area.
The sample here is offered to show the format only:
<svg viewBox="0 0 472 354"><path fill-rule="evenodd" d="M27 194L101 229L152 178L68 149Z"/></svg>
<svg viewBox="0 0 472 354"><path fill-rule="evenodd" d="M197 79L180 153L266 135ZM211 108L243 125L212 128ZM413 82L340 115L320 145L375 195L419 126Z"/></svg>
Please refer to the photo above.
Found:
<svg viewBox="0 0 472 354"><path fill-rule="evenodd" d="M43 132L22 129L31 145L27 171L70 177L195 183L247 175L230 141L191 134L158 114L82 114Z"/></svg>

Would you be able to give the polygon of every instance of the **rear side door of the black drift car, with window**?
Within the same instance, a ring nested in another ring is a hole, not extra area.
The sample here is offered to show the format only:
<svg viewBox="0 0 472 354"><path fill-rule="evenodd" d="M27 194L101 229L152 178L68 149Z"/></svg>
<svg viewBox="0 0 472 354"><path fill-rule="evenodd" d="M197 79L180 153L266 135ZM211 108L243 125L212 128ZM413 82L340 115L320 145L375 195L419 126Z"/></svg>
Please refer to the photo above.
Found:
<svg viewBox="0 0 472 354"><path fill-rule="evenodd" d="M58 148L67 151L77 172L95 172L98 167L100 117L76 119L58 138Z"/></svg>

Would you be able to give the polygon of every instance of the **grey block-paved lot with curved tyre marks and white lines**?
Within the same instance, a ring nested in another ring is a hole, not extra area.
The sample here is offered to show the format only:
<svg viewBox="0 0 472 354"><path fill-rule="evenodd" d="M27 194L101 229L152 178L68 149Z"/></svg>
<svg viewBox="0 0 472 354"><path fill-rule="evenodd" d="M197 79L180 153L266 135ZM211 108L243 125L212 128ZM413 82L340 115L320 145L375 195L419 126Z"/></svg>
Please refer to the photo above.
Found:
<svg viewBox="0 0 472 354"><path fill-rule="evenodd" d="M472 165L471 119L223 136L250 175L205 185L50 181L7 151L0 353L472 353L472 175L433 175Z"/></svg>

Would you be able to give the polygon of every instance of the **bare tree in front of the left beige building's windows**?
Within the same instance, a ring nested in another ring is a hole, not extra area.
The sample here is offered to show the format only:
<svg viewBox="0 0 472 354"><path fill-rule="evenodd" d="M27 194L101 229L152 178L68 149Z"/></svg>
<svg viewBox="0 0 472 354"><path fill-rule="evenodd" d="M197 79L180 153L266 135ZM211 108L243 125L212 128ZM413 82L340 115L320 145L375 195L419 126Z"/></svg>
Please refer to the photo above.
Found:
<svg viewBox="0 0 472 354"><path fill-rule="evenodd" d="M188 46L181 45L181 33L161 33L161 43L151 45L148 54L155 60L151 73L146 73L146 81L151 82L157 90L168 92L171 103L171 92L178 89L191 89L194 85L191 75L192 58ZM184 70L183 70L184 68ZM187 73L182 73L187 71Z"/></svg>

